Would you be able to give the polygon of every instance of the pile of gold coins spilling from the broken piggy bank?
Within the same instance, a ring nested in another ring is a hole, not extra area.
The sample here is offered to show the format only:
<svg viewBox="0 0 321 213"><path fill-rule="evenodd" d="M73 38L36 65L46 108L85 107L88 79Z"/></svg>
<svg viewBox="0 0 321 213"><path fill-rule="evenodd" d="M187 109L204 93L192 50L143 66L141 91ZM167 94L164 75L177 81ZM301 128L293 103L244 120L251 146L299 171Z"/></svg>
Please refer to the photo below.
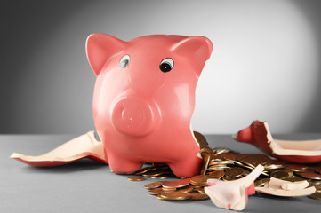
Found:
<svg viewBox="0 0 321 213"><path fill-rule="evenodd" d="M309 168L301 164L285 164L269 158L265 154L238 154L227 148L212 149L207 146L205 138L195 133L202 147L199 154L203 158L203 166L199 175L187 179L173 181L157 181L145 185L148 192L156 195L159 200L205 200L209 197L204 193L207 179L215 178L223 181L237 180L251 173L261 164L265 170L255 180L255 186L261 187L269 183L270 177L287 181L307 180L317 191L309 198L321 200L321 167ZM143 180L143 177L165 179L175 177L172 170L164 163L153 163L135 173L138 177L128 177L129 180ZM132 178L132 179L131 179ZM135 179L137 178L137 179Z"/></svg>

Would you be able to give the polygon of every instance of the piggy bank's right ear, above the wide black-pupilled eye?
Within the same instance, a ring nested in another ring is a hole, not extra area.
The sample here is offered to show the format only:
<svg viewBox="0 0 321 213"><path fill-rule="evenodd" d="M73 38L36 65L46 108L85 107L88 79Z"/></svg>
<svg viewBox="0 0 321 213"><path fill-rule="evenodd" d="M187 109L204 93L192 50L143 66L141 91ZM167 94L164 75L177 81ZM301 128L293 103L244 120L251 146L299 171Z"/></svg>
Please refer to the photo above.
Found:
<svg viewBox="0 0 321 213"><path fill-rule="evenodd" d="M182 56L187 56L192 66L199 76L205 65L205 61L210 58L213 49L213 43L204 36L191 36L175 43L172 51Z"/></svg>

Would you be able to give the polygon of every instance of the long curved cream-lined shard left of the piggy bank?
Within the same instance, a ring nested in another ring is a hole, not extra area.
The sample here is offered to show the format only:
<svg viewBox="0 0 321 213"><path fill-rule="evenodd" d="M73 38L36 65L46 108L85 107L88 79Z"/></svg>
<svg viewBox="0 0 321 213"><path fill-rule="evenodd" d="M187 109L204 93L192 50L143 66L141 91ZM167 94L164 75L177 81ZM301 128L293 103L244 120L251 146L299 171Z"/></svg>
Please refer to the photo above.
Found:
<svg viewBox="0 0 321 213"><path fill-rule="evenodd" d="M10 157L37 167L59 166L76 162L82 158L90 158L97 162L108 163L104 147L102 143L95 138L93 131L69 140L46 154L28 156L13 153Z"/></svg>

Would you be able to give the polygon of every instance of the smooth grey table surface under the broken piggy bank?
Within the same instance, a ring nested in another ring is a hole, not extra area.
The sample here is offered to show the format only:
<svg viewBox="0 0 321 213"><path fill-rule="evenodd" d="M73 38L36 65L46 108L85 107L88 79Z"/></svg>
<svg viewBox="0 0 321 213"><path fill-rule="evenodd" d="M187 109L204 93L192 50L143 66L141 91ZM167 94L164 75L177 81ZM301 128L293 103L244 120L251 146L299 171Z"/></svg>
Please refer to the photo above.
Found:
<svg viewBox="0 0 321 213"><path fill-rule="evenodd" d="M205 137L211 147L261 153L254 146L236 142L231 135ZM231 212L215 207L210 200L159 201L144 189L156 180L131 182L127 180L129 175L116 175L99 162L82 160L35 168L9 158L13 152L44 154L72 138L76 135L0 135L0 212ZM321 134L279 138L314 139ZM321 201L255 194L249 197L243 212L321 212Z"/></svg>

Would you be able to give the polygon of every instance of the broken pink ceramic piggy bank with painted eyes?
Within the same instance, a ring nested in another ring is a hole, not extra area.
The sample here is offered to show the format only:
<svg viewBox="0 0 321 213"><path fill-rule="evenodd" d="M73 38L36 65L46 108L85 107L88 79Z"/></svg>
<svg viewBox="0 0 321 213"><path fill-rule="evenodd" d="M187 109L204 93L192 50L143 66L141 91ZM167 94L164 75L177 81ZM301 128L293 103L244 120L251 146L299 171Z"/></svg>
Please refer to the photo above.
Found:
<svg viewBox="0 0 321 213"><path fill-rule="evenodd" d="M97 76L94 124L110 170L132 173L164 162L178 177L199 174L191 130L198 76L213 44L203 36L142 36L124 42L92 34L88 61Z"/></svg>

